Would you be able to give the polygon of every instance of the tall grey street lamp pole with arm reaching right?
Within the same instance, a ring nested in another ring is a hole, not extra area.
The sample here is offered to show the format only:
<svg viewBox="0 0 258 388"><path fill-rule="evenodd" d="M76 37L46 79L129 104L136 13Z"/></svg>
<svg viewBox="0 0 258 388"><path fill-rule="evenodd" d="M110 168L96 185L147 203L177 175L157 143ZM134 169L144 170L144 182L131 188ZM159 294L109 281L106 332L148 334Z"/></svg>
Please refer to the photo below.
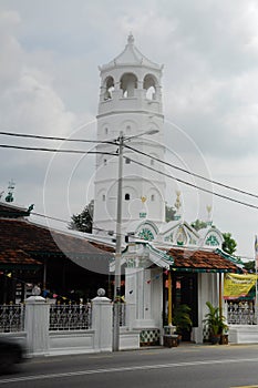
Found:
<svg viewBox="0 0 258 388"><path fill-rule="evenodd" d="M122 256L122 183L123 183L123 151L124 143L131 139L143 135L153 135L158 130L148 130L137 135L124 137L123 131L120 132L118 143L118 183L117 183L117 208L116 208L116 245L115 245L115 285L114 285L114 330L113 330L113 350L120 350L120 305L121 305L121 256Z"/></svg>

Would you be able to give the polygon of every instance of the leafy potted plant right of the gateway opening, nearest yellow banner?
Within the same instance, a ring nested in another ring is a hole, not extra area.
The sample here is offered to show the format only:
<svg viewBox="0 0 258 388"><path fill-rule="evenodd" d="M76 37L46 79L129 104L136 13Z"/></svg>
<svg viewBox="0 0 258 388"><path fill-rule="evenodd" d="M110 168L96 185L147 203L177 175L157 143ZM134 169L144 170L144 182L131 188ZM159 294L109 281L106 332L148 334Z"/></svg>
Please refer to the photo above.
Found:
<svg viewBox="0 0 258 388"><path fill-rule="evenodd" d="M226 318L220 314L219 307L213 306L210 302L206 302L206 306L208 313L203 321L208 329L210 343L218 344L224 330L227 329Z"/></svg>

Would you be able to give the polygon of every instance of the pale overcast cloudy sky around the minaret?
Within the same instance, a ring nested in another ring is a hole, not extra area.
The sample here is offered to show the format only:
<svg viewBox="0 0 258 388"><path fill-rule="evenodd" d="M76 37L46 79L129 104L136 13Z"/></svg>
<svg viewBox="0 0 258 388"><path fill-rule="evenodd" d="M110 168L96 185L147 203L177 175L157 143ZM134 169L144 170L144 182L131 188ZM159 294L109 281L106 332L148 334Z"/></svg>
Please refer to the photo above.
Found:
<svg viewBox="0 0 258 388"><path fill-rule="evenodd" d="M167 160L257 194L255 0L1 0L0 131L95 139L97 67L122 52L131 31L136 47L164 64ZM3 135L0 144L61 145ZM62 147L85 150L83 144ZM13 178L16 203L33 203L38 213L69 221L93 196L93 155L0 149L0 190L6 195ZM175 188L169 180L169 205ZM258 206L256 197L208 188ZM205 218L211 205L214 224L233 234L237 253L254 257L258 210L185 185L179 190L186 221Z"/></svg>

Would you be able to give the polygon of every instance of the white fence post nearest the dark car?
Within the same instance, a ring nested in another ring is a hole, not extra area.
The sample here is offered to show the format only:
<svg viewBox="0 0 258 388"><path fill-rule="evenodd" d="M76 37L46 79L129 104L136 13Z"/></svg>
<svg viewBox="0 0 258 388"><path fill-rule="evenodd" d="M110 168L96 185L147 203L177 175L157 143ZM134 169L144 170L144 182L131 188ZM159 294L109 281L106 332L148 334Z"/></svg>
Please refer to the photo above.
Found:
<svg viewBox="0 0 258 388"><path fill-rule="evenodd" d="M24 328L29 354L37 356L49 351L49 317L50 305L42 296L34 294L25 299Z"/></svg>

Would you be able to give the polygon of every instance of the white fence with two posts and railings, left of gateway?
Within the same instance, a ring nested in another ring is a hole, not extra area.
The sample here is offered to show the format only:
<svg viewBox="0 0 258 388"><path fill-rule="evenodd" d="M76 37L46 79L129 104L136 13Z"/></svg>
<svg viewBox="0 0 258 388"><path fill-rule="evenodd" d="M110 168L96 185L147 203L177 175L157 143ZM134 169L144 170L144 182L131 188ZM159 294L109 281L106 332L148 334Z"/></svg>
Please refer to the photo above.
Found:
<svg viewBox="0 0 258 388"><path fill-rule="evenodd" d="M125 325L121 304L120 349L140 348L140 333ZM96 297L86 305L51 305L31 296L24 305L0 306L0 335L25 339L31 355L112 351L113 304Z"/></svg>

